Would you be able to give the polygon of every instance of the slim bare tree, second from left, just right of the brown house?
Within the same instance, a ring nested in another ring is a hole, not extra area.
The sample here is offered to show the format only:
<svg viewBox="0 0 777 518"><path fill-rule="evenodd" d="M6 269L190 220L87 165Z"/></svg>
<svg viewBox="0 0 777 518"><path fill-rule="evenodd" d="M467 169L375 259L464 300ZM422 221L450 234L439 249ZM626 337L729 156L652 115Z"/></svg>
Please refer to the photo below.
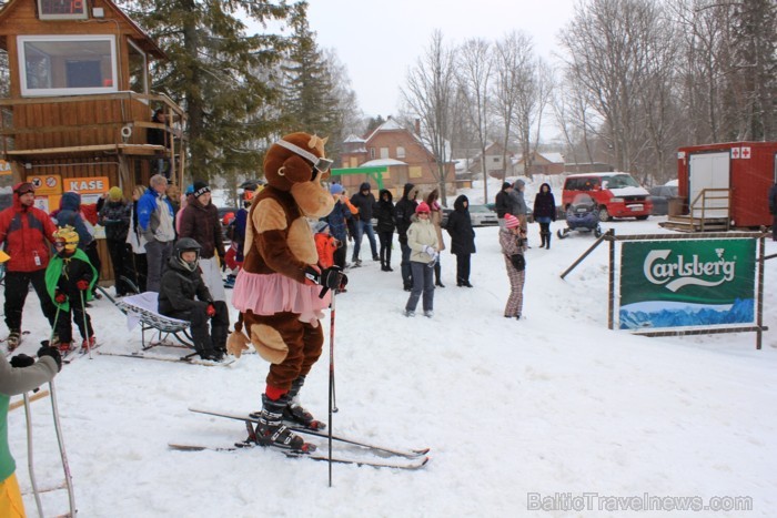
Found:
<svg viewBox="0 0 777 518"><path fill-rule="evenodd" d="M483 200L488 200L488 171L486 146L488 145L488 90L492 79L493 59L491 43L473 38L464 42L458 53L458 87L467 108L466 114L477 135L483 173Z"/></svg>

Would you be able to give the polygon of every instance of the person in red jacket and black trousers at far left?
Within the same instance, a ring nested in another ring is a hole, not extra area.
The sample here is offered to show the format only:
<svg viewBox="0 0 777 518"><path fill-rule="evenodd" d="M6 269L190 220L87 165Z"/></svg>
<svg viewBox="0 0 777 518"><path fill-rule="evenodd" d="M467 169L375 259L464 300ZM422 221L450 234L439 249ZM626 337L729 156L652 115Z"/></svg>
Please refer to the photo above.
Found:
<svg viewBox="0 0 777 518"><path fill-rule="evenodd" d="M0 212L0 244L10 255L6 263L6 325L10 331L8 348L21 342L21 313L30 288L38 294L43 315L53 327L57 309L46 291L49 243L54 242L57 226L49 215L33 206L36 190L29 182L13 186L13 205Z"/></svg>

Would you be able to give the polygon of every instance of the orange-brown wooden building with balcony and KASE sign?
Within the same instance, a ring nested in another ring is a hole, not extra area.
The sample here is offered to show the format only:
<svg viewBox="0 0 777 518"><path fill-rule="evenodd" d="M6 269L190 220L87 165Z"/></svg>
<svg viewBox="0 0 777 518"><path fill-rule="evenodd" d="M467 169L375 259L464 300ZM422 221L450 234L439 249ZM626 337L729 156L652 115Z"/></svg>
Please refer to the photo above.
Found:
<svg viewBox="0 0 777 518"><path fill-rule="evenodd" d="M0 11L9 95L0 99L0 186L32 181L48 212L63 192L84 203L111 186L129 199L162 167L181 185L183 110L149 91L149 63L164 52L110 0L10 0ZM155 110L167 124L152 122ZM148 131L161 130L160 144ZM101 244L102 278L110 278Z"/></svg>

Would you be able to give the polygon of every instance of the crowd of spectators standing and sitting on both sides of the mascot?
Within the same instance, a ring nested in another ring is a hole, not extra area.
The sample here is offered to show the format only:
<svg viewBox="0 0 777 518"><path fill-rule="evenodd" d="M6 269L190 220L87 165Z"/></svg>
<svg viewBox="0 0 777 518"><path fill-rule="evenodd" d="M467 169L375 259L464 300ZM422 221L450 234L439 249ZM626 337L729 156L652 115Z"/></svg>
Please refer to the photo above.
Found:
<svg viewBox="0 0 777 518"><path fill-rule="evenodd" d="M521 255L525 265L523 251L528 247L524 187L521 180L505 182L495 199L502 231L500 243L512 286L511 302L505 308L505 316L509 317L521 316L515 293L522 290L524 268L516 270L515 256ZM225 287L234 284L242 264L246 219L256 189L261 186L246 186L240 210L229 215L229 222L222 222L212 203L210 186L202 181L194 182L180 195L163 174L155 174L148 186L137 185L132 190L131 200L125 200L123 191L113 186L90 204L82 203L78 193L67 192L60 206L50 214L34 206L32 184L17 184L13 205L0 213L0 243L10 256L6 264L4 301L9 349L16 348L22 338L22 309L30 284L51 325L53 346L64 354L75 348L71 321L81 333L81 347L94 346L87 308L92 298L99 297L95 290L101 258L94 226L101 225L113 268L115 296L159 293L160 314L190 321L196 353L205 359L221 359L226 352L230 324ZM475 231L465 195L456 197L443 224L437 189L422 196L418 186L407 183L396 203L387 189L382 189L375 199L369 182L362 183L351 196L339 183L330 185L330 193L334 209L312 227L314 233L325 236L316 237L316 243L322 244L319 250L322 263L331 261L343 270L361 266L360 254L366 235L373 261L381 263L382 272L393 272L392 243L396 233L402 286L410 294L406 316L415 315L418 301L423 303L423 314L433 316L434 290L445 287L441 275L441 253L445 250L456 260L456 286L473 287L470 275ZM536 195L533 216L541 226L541 246L549 248L549 225L556 214L548 184L543 184ZM222 223L229 223L226 246ZM519 246L515 244L518 241ZM347 263L349 243L353 246L351 263ZM509 257L513 260L508 261ZM226 281L222 276L225 270L229 270ZM345 291L337 288L337 293Z"/></svg>

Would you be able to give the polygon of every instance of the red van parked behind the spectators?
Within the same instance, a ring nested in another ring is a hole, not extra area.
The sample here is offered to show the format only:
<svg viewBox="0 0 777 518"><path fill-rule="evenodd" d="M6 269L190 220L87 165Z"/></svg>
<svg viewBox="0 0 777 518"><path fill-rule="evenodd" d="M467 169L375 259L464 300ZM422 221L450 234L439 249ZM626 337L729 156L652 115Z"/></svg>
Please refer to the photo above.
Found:
<svg viewBox="0 0 777 518"><path fill-rule="evenodd" d="M562 205L564 211L579 193L589 194L599 209L599 221L613 217L647 220L653 213L650 193L628 173L571 174L564 181Z"/></svg>

